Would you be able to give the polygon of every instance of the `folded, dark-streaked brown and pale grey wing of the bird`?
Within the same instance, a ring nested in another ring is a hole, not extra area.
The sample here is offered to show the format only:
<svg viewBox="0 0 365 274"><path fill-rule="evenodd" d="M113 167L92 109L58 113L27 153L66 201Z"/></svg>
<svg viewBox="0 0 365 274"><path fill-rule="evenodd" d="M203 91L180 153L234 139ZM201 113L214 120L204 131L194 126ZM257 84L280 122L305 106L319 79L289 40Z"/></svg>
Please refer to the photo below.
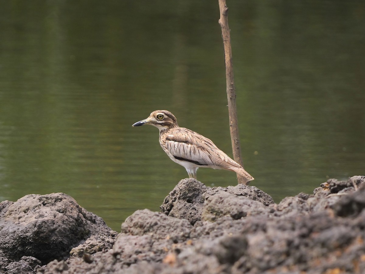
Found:
<svg viewBox="0 0 365 274"><path fill-rule="evenodd" d="M176 159L197 165L223 169L241 167L210 139L190 129L179 128L169 132L166 136L166 148Z"/></svg>

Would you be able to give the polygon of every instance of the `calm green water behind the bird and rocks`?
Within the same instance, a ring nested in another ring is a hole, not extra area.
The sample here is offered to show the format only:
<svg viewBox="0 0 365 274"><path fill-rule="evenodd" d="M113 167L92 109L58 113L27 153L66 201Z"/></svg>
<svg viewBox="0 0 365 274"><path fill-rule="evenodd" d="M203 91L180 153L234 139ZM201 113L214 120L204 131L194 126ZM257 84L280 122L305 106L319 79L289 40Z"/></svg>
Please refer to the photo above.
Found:
<svg viewBox="0 0 365 274"><path fill-rule="evenodd" d="M364 175L364 1L227 4L252 185L279 202ZM159 210L187 173L131 127L157 109L231 155L218 19L218 1L1 1L0 201L64 192L117 231Z"/></svg>

